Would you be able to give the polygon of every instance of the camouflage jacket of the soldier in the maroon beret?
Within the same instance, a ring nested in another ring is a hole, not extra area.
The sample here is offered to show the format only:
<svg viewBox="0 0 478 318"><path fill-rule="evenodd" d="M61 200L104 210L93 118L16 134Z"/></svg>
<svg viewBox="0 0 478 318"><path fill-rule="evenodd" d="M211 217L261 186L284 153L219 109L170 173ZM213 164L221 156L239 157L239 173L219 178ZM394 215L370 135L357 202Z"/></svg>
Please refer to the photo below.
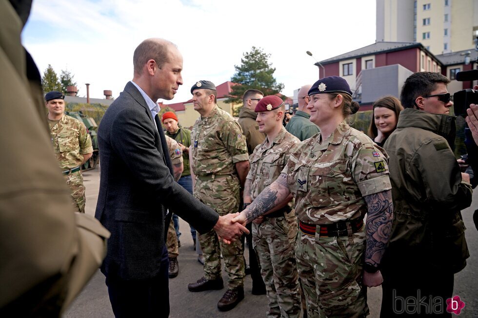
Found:
<svg viewBox="0 0 478 318"><path fill-rule="evenodd" d="M255 200L262 190L273 183L287 164L294 145L300 140L282 127L274 138L272 145L268 145L267 138L256 147L249 157L251 168L247 179L251 180L251 199ZM289 203L293 207L294 203Z"/></svg>

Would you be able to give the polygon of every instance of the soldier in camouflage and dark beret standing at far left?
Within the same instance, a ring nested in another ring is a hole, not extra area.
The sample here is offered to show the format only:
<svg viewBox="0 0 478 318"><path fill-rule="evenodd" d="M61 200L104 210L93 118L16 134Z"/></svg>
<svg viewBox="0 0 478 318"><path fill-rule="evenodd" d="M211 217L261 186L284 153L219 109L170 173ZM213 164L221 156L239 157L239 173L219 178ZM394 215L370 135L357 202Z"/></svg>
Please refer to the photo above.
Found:
<svg viewBox="0 0 478 318"><path fill-rule="evenodd" d="M85 187L80 166L93 155L91 138L85 125L65 115L65 95L60 92L45 94L51 141L66 183L70 187L73 205L85 212Z"/></svg>

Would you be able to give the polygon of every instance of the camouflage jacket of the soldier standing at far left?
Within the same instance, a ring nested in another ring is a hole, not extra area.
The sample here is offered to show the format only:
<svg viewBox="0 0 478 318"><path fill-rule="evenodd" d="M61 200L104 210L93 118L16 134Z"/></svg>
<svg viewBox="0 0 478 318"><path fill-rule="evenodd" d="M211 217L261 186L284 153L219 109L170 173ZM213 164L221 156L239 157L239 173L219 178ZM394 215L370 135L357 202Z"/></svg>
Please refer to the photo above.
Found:
<svg viewBox="0 0 478 318"><path fill-rule="evenodd" d="M93 152L91 138L85 125L78 119L63 114L50 126L50 136L57 160L62 169L75 168L83 162L83 154Z"/></svg>

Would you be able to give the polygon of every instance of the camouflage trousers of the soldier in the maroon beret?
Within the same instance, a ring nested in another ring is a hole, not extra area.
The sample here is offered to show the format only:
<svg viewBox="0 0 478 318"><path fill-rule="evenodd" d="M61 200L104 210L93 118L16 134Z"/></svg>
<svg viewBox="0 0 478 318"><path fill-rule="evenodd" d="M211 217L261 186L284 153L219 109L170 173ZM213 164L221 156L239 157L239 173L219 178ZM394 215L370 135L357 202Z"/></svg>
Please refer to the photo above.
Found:
<svg viewBox="0 0 478 318"><path fill-rule="evenodd" d="M294 253L297 228L294 211L286 217L264 217L261 224L252 224L253 244L269 301L268 318L300 315L299 276Z"/></svg>

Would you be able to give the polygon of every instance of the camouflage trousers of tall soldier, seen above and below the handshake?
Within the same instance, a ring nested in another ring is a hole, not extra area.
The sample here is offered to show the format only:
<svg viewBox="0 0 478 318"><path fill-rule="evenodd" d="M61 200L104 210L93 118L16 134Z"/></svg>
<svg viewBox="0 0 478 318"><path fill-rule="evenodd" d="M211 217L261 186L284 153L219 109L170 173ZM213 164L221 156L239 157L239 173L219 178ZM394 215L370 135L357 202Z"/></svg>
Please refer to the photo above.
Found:
<svg viewBox="0 0 478 318"><path fill-rule="evenodd" d="M196 179L194 196L202 203L210 206L219 215L236 213L239 209L239 180L236 176L227 175L216 179L201 181ZM228 287L244 285L245 265L243 246L240 240L231 244L219 241L214 230L199 233L204 256L204 277L208 280L221 278L221 254L224 267L229 277Z"/></svg>

